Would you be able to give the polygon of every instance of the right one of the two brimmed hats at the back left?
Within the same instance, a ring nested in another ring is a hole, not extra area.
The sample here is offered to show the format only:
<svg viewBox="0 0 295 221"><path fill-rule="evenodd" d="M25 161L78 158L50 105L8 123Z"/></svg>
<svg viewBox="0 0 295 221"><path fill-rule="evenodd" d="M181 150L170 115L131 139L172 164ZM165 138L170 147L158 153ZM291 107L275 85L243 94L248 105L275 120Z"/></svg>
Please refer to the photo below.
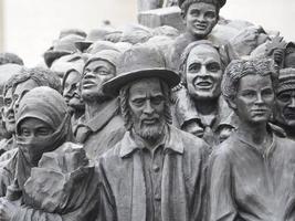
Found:
<svg viewBox="0 0 295 221"><path fill-rule="evenodd" d="M89 33L87 34L85 40L75 42L75 45L81 52L84 52L94 42L99 41L99 40L105 40L106 35L108 35L110 33L115 33L115 32L116 32L116 30L110 28L110 27L103 27L99 29L93 29L89 31Z"/></svg>

